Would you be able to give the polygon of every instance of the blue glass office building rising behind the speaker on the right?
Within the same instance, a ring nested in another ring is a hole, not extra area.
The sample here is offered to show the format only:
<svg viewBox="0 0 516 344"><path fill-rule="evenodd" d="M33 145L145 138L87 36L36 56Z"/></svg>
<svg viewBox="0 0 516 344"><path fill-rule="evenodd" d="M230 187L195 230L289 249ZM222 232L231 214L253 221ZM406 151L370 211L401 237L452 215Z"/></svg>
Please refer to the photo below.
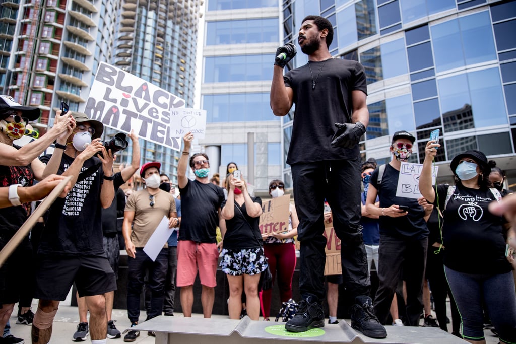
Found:
<svg viewBox="0 0 516 344"><path fill-rule="evenodd" d="M397 130L417 138L412 162L422 162L433 129L441 180L449 161L478 149L516 178L516 1L291 0L282 5L284 42L297 44L305 15L333 24L333 57L360 61L367 74L370 122L363 160L390 160ZM307 63L300 53L295 65ZM288 148L292 120L283 120ZM285 159L283 158L283 161ZM289 178L288 165L283 166ZM510 183L509 183L510 184Z"/></svg>

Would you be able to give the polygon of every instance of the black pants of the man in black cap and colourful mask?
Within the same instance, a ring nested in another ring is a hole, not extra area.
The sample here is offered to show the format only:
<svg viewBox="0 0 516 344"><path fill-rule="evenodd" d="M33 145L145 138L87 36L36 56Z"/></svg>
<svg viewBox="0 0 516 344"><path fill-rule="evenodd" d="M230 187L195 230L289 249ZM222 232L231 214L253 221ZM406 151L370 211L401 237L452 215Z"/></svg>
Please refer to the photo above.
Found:
<svg viewBox="0 0 516 344"><path fill-rule="evenodd" d="M379 286L375 297L375 312L385 324L389 316L394 291L403 277L407 286L407 326L419 326L423 311L423 281L425 277L428 237L395 238L380 234L378 249Z"/></svg>

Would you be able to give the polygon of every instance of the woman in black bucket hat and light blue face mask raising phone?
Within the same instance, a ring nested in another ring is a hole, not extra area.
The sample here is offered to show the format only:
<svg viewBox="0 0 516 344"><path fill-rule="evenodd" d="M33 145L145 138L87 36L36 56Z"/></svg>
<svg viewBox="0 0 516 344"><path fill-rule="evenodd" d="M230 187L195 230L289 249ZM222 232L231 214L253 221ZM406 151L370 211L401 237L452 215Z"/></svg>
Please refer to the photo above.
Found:
<svg viewBox="0 0 516 344"><path fill-rule="evenodd" d="M486 155L477 150L457 155L450 163L456 185L433 187L431 165L439 146L434 141L426 145L419 187L444 218L443 247L438 251L444 252L444 270L461 316L462 336L471 343L486 342L485 304L500 342L516 342L516 292L506 257L506 244L516 249L515 235L511 228L504 237L502 217L488 210L489 203L501 195L489 181Z"/></svg>

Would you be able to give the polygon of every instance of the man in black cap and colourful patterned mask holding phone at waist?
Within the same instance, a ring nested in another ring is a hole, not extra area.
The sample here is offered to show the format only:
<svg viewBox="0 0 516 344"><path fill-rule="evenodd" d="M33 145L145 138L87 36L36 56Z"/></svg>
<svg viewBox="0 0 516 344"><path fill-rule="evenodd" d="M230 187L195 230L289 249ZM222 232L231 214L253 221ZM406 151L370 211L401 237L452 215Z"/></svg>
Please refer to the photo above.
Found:
<svg viewBox="0 0 516 344"><path fill-rule="evenodd" d="M419 326L423 310L423 280L428 228L426 219L431 206L421 206L419 200L396 196L401 161L412 154L415 137L406 132L394 133L389 148L392 158L377 167L370 176L365 206L370 216L380 218L380 247L378 249L379 286L375 298L376 316L385 324L394 292L405 271L407 285L406 326ZM379 196L380 206L375 205ZM401 209L404 206L406 209Z"/></svg>

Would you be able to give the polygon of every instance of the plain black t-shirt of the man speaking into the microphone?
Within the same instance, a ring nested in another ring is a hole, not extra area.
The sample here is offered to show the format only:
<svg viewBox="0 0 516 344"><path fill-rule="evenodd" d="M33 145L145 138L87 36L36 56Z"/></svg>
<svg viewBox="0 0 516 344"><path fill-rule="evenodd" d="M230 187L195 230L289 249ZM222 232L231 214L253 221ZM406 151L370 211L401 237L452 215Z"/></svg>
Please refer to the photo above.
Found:
<svg viewBox="0 0 516 344"><path fill-rule="evenodd" d="M312 89L315 78L316 85ZM351 123L351 91L367 94L362 65L333 58L308 62L287 72L283 79L285 86L294 91L296 104L287 163L360 158L358 144L352 149L343 149L333 148L330 142L336 132L335 123Z"/></svg>

